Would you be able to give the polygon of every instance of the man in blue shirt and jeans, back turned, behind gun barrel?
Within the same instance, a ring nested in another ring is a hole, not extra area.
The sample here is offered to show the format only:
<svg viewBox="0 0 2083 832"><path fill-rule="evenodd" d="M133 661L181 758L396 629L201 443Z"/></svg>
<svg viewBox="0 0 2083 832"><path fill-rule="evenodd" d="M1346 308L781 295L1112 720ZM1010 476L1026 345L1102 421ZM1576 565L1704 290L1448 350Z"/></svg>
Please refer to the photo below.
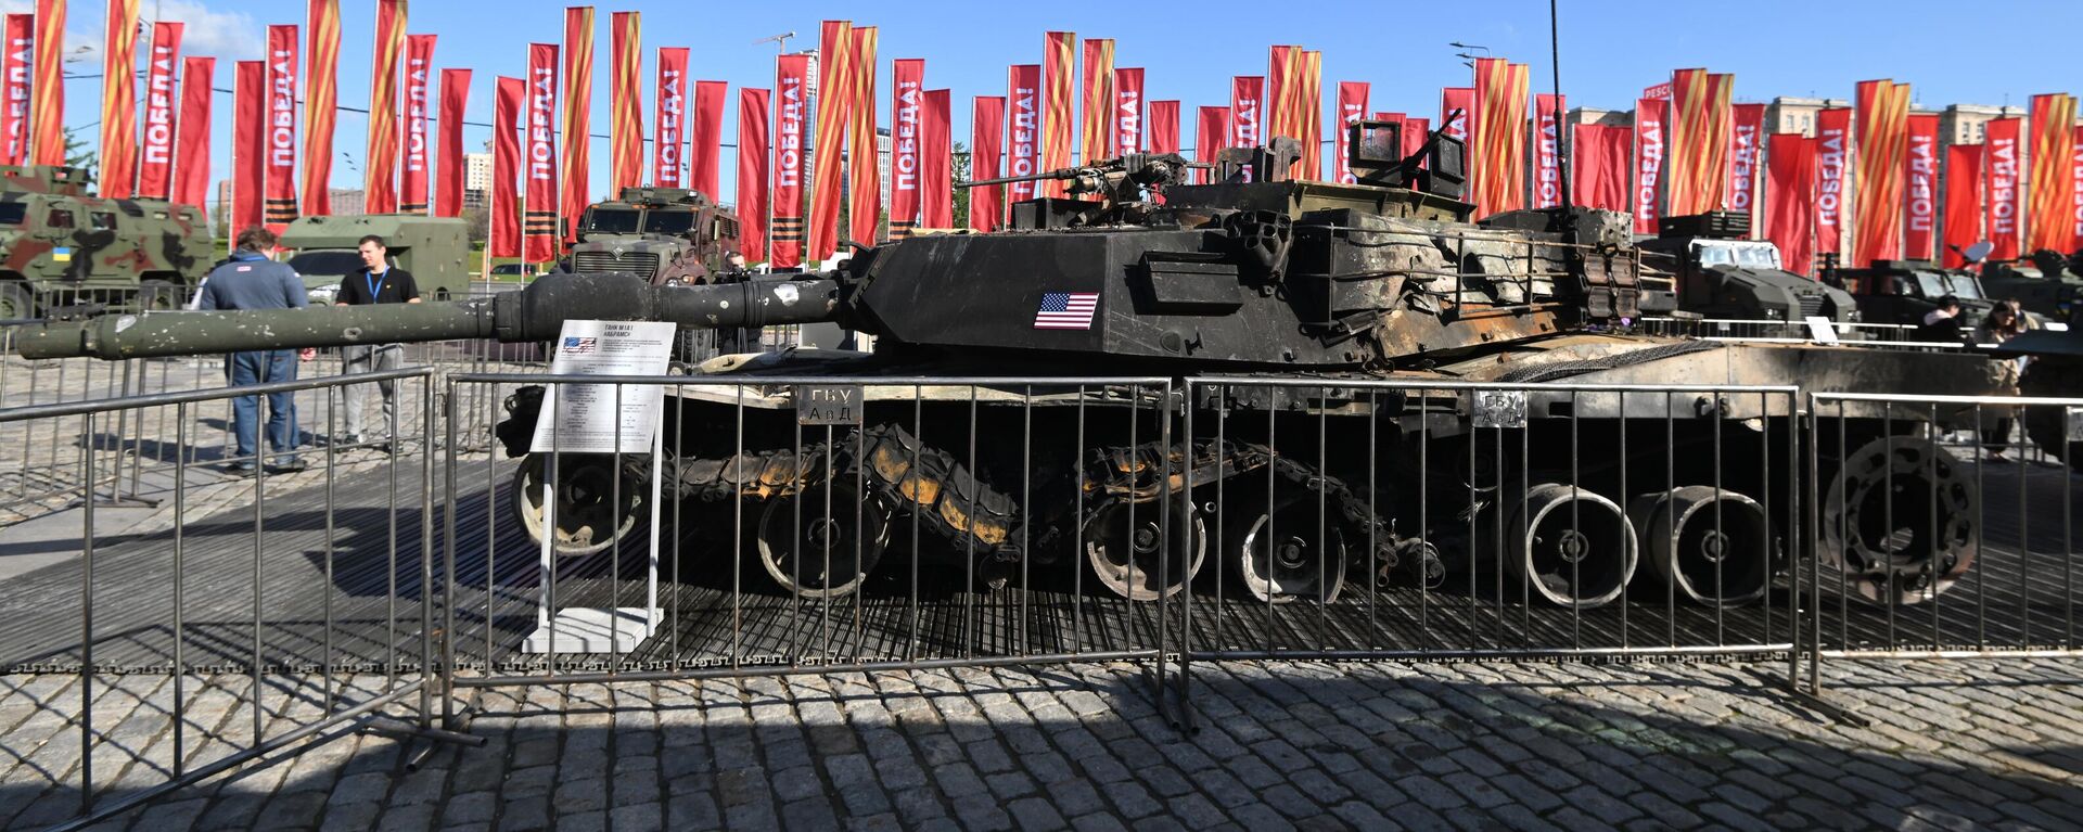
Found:
<svg viewBox="0 0 2083 832"><path fill-rule="evenodd" d="M260 225L248 227L237 236L237 248L231 259L210 269L204 277L202 292L196 298L198 309L304 309L310 300L304 294L304 279L296 275L287 263L275 263L267 256L275 248L275 231ZM306 357L308 361L308 357ZM233 386L248 384L269 384L269 382L294 382L296 380L296 350L254 350L254 352L231 352L225 361L225 371L231 375ZM227 473L248 475L260 459L258 438L254 430L260 417L260 396L237 396L231 400L231 434L237 442L235 459L225 465ZM287 392L271 392L267 396L267 438L269 446L275 450L277 471L302 471L304 461L294 455L296 450L296 402Z"/></svg>

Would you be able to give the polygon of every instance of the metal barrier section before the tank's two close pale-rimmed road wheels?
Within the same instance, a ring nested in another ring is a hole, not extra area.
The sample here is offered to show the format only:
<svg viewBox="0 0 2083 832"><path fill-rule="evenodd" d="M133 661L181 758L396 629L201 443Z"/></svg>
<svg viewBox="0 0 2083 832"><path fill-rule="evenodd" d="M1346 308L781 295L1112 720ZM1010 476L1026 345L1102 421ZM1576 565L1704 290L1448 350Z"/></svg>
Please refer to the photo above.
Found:
<svg viewBox="0 0 2083 832"><path fill-rule="evenodd" d="M1187 400L1229 459L1185 467L1212 509L1187 665L1793 649L1796 388L1239 377Z"/></svg>

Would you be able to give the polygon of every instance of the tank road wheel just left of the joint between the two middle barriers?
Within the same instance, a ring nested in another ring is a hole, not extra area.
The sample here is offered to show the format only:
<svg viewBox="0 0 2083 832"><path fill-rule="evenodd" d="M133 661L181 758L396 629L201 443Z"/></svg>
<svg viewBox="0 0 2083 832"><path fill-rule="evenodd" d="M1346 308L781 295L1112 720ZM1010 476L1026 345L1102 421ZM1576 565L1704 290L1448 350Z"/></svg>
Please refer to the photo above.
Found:
<svg viewBox="0 0 2083 832"><path fill-rule="evenodd" d="M1200 571L1208 534L1191 500L1175 498L1171 513L1156 500L1108 500L1085 517L1085 565L1108 592L1129 601L1160 601L1179 592ZM1133 515L1133 517L1129 517ZM1171 534L1164 534L1164 521ZM1181 557L1179 540L1187 538ZM1162 576L1162 580L1160 580Z"/></svg>

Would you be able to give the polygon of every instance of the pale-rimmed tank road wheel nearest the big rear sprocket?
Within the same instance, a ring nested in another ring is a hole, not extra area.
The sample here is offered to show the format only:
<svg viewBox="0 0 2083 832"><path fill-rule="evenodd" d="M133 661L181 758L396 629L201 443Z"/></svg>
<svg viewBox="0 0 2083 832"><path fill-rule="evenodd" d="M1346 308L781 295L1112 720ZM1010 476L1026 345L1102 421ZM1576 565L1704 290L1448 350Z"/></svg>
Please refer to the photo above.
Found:
<svg viewBox="0 0 2083 832"><path fill-rule="evenodd" d="M1741 607L1771 586L1771 523L1764 507L1714 486L1641 494L1627 507L1650 569L1679 598L1708 607Z"/></svg>

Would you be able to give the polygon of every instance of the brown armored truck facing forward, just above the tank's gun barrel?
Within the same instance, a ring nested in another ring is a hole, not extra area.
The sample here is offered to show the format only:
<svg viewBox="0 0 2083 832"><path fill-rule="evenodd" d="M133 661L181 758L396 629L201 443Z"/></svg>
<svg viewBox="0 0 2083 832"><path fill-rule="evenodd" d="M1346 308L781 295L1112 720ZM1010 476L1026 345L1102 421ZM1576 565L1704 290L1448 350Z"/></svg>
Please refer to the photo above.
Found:
<svg viewBox="0 0 2083 832"><path fill-rule="evenodd" d="M698 286L737 250L737 215L685 188L623 188L579 219L562 271L629 271L654 286Z"/></svg>

